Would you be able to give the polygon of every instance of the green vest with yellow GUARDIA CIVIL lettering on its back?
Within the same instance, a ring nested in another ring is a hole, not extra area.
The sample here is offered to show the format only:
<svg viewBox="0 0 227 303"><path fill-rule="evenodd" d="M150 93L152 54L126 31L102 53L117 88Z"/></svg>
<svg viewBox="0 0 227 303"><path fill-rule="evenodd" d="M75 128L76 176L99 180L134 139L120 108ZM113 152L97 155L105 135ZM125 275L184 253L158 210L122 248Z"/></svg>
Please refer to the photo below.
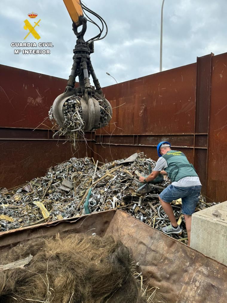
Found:
<svg viewBox="0 0 227 303"><path fill-rule="evenodd" d="M164 168L172 182L179 181L184 177L195 176L196 170L192 164L189 163L186 155L181 151L167 151L167 154L162 156L168 167Z"/></svg>

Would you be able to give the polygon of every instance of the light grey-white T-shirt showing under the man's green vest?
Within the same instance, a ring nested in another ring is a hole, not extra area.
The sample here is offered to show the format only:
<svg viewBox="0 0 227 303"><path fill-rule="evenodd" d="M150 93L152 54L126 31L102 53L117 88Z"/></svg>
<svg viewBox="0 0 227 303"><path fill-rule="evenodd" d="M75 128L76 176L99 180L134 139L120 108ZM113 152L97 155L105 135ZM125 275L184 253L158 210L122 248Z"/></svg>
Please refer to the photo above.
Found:
<svg viewBox="0 0 227 303"><path fill-rule="evenodd" d="M168 167L166 159L160 157L156 162L155 168L153 170L162 171L165 170L166 167ZM202 184L199 181L199 177L197 176L184 177L179 181L173 182L172 185L178 187L188 187L188 186L198 186L198 185L202 186Z"/></svg>

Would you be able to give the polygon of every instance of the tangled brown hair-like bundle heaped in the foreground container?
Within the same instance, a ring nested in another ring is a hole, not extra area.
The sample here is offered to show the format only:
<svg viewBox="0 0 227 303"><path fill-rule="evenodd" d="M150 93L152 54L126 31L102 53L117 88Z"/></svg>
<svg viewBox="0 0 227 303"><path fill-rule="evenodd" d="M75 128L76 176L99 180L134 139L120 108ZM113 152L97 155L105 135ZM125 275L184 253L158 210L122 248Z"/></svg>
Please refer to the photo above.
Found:
<svg viewBox="0 0 227 303"><path fill-rule="evenodd" d="M8 264L29 254L25 268L0 271L0 302L143 303L128 249L111 236L56 234L11 248Z"/></svg>

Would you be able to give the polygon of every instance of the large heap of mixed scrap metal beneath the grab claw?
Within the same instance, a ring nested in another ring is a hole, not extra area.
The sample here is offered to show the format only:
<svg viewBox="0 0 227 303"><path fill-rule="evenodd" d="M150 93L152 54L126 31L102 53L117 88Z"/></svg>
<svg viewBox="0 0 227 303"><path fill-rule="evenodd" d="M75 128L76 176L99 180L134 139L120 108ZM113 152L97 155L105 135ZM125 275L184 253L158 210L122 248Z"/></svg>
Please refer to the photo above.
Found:
<svg viewBox="0 0 227 303"><path fill-rule="evenodd" d="M71 218L113 208L127 211L140 221L161 230L169 219L158 195L170 184L168 177L157 185L147 184L139 191L139 176L149 175L148 166L155 161L143 152L103 164L90 158L71 158L48 169L47 174L23 186L0 189L0 231L29 226L45 221ZM181 235L170 235L187 241L181 215L181 201L172 202ZM208 204L201 197L196 210Z"/></svg>

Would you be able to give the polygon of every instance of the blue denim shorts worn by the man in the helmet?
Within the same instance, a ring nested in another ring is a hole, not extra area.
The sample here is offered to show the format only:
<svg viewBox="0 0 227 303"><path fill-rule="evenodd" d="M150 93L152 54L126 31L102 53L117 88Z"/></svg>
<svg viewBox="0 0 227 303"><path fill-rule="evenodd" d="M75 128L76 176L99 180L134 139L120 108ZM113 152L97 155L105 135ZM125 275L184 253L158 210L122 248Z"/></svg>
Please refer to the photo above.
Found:
<svg viewBox="0 0 227 303"><path fill-rule="evenodd" d="M192 215L196 209L196 204L199 202L199 195L201 191L200 185L188 186L188 187L177 187L170 184L161 193L160 198L170 203L174 200L181 198L182 200L182 211L184 215Z"/></svg>

